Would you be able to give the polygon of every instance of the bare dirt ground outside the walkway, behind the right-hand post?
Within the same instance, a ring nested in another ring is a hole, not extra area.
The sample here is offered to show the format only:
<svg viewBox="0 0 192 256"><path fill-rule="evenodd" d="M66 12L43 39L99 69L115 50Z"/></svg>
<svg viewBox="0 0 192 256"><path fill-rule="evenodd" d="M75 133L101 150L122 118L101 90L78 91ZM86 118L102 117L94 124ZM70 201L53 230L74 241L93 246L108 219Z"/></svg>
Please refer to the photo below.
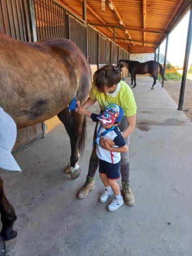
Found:
<svg viewBox="0 0 192 256"><path fill-rule="evenodd" d="M164 82L164 88L169 93L170 96L179 103L179 94L181 88L181 80L173 81L168 80ZM188 111L187 111L188 109ZM185 95L184 95L184 104L183 104L184 113L192 121L192 80L186 80L185 84ZM186 111L185 111L186 110Z"/></svg>

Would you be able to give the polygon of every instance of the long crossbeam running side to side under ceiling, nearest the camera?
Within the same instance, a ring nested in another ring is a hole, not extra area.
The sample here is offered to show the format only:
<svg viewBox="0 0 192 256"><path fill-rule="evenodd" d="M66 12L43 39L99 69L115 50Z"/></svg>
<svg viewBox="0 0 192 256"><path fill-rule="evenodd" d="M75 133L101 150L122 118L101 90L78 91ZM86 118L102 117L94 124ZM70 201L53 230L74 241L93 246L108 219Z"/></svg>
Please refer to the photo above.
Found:
<svg viewBox="0 0 192 256"><path fill-rule="evenodd" d="M166 34L164 31L162 30L154 30L154 29L143 29L143 28L135 28L135 27L123 27L123 26L119 26L119 25L115 25L115 24L97 24L97 23L90 23L90 25L92 26L96 26L96 27L108 27L108 28L115 28L116 29L123 29L123 30L131 30L131 31L142 31L142 32L148 32L148 33L157 33L157 34Z"/></svg>

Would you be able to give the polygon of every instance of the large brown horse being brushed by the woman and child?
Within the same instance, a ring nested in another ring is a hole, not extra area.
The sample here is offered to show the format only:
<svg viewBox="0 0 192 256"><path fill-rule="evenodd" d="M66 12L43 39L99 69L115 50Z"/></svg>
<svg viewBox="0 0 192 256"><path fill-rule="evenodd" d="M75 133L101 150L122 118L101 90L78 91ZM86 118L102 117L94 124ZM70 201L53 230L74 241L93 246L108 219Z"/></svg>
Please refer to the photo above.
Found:
<svg viewBox="0 0 192 256"><path fill-rule="evenodd" d="M77 178L78 152L86 137L82 115L68 110L72 98L82 103L91 88L90 65L79 48L67 39L35 43L17 41L0 32L0 106L12 116L17 127L43 122L55 115L65 125L71 142L70 168ZM0 178L0 212L5 240L16 236L16 219Z"/></svg>

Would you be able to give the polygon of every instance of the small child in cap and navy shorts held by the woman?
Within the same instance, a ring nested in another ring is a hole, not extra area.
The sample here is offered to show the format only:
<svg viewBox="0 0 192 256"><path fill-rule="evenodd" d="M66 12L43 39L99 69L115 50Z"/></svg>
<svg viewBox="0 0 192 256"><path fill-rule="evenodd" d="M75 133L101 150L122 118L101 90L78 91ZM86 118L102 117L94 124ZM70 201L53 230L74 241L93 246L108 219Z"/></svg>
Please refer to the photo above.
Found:
<svg viewBox="0 0 192 256"><path fill-rule="evenodd" d="M100 202L106 202L109 197L115 195L109 211L117 210L123 204L120 188L116 180L120 178L120 153L127 152L128 147L117 125L123 118L123 109L117 104L110 104L104 108L103 113L96 115L82 109L77 101L78 112L90 117L97 123L96 154L99 158L99 176L105 186L103 194L99 197ZM105 139L113 140L115 146L110 146Z"/></svg>

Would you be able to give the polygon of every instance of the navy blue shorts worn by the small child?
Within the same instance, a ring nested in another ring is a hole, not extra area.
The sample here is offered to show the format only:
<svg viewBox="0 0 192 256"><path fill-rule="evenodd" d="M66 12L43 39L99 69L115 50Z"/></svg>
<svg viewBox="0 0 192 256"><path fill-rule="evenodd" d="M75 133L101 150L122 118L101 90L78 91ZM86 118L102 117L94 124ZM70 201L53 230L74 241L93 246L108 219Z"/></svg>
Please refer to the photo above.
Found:
<svg viewBox="0 0 192 256"><path fill-rule="evenodd" d="M120 178L121 161L118 163L109 163L99 159L99 173L106 174L108 179L117 180Z"/></svg>

